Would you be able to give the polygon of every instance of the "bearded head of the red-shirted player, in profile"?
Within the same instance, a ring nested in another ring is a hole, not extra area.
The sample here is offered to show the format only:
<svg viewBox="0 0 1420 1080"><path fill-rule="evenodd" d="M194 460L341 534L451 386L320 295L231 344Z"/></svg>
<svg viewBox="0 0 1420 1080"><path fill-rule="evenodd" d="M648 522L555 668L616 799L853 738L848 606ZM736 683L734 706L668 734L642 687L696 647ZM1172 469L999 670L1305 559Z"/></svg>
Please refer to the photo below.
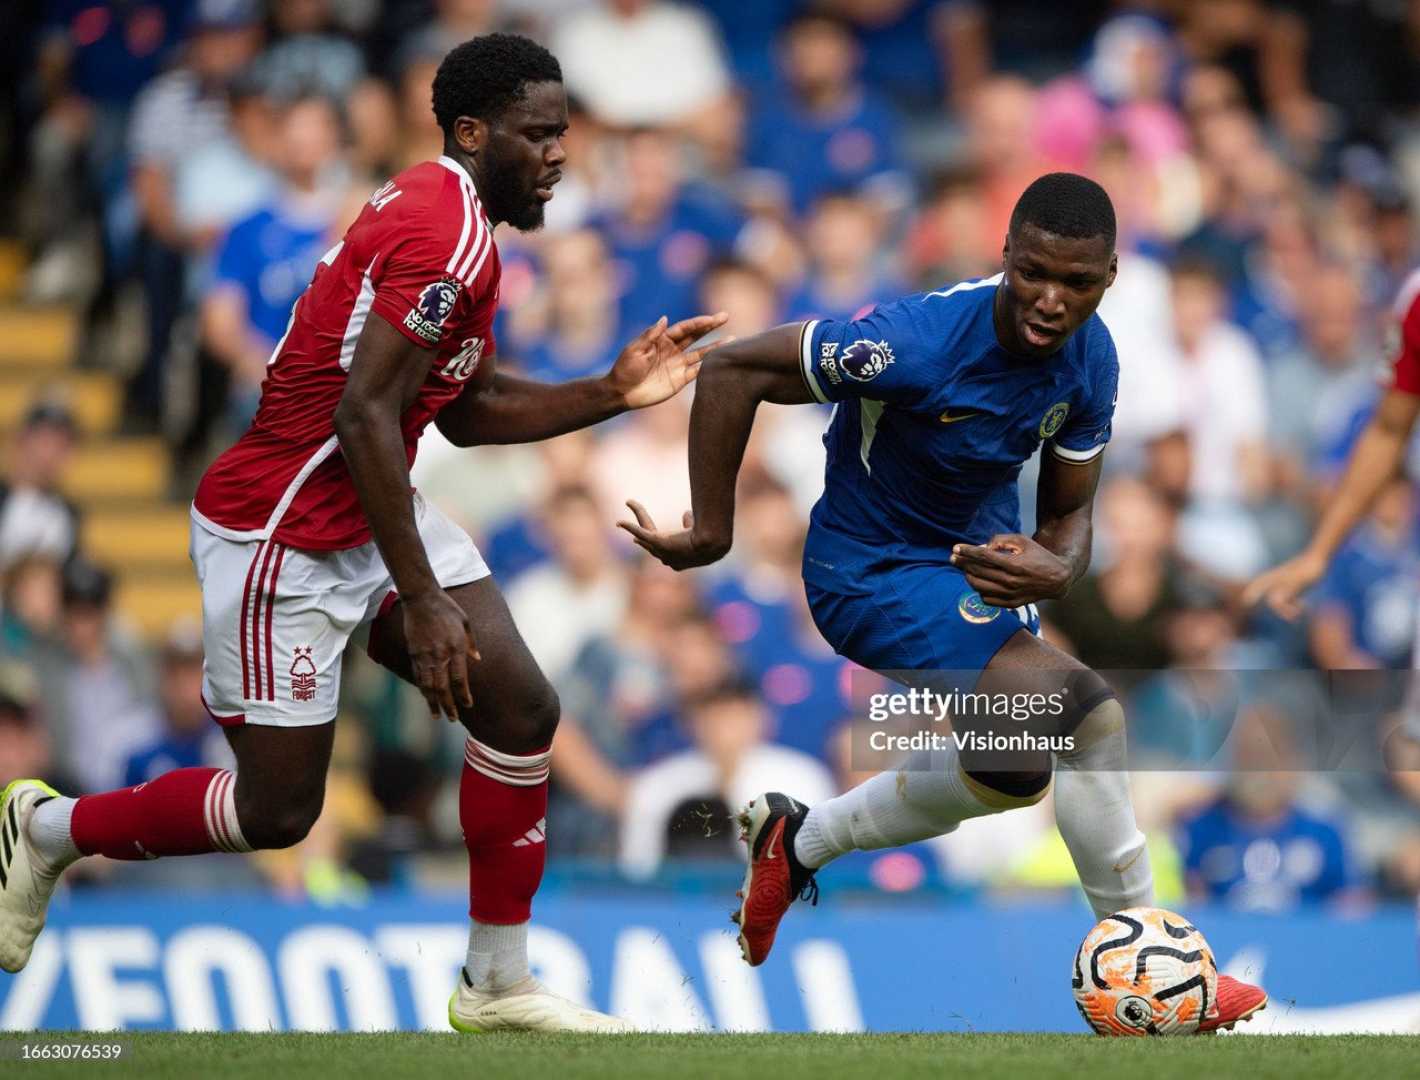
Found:
<svg viewBox="0 0 1420 1080"><path fill-rule="evenodd" d="M473 160L488 217L540 227L567 160L567 92L557 58L525 37L484 34L443 58L433 98L444 150Z"/></svg>

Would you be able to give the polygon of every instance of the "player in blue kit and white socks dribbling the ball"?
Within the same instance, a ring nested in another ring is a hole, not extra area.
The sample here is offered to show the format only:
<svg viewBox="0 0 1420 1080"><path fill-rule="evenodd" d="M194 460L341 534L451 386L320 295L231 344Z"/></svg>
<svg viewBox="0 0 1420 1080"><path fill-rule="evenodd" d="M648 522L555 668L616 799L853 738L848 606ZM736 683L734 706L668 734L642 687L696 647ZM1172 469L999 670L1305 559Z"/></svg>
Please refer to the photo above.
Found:
<svg viewBox="0 0 1420 1080"><path fill-rule="evenodd" d="M812 808L778 792L757 798L740 816L750 864L734 917L750 964L764 962L790 904L816 896L819 867L1035 803L1052 771L1056 823L1096 917L1153 904L1123 710L1098 674L1041 640L1035 609L1089 565L1119 373L1095 309L1116 270L1105 190L1074 173L1042 176L1011 214L1001 274L713 351L690 419L684 528L660 531L628 504L636 522L622 528L662 562L714 562L730 549L736 475L758 403L832 402L824 495L804 549L824 637L907 684L913 673L924 685L951 673L964 690L1054 691L1068 702L1058 718L1039 717L1059 745L1068 737L1058 755L981 759L947 739ZM1037 529L1027 536L1017 478L1042 444ZM1260 988L1220 976L1200 1030L1231 1027L1265 1003Z"/></svg>

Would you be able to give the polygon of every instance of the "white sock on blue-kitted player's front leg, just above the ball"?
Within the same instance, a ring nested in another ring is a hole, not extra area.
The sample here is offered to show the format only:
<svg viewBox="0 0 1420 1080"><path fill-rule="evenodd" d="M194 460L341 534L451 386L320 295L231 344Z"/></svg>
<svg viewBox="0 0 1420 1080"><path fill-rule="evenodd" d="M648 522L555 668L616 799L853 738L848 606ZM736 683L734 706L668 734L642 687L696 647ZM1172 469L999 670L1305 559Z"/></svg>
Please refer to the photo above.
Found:
<svg viewBox="0 0 1420 1080"><path fill-rule="evenodd" d="M1076 731L1088 739L1055 764L1055 825L1065 839L1075 873L1103 918L1153 904L1153 869L1145 834L1129 800L1125 711L1110 698L1091 711Z"/></svg>

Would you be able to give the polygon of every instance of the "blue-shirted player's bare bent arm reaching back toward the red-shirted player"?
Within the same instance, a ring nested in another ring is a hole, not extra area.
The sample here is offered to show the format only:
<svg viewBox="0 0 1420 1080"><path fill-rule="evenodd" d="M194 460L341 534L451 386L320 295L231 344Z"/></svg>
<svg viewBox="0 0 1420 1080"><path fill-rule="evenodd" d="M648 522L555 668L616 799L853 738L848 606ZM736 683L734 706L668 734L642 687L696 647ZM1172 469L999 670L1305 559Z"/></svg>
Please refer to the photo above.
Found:
<svg viewBox="0 0 1420 1080"><path fill-rule="evenodd" d="M638 545L674 571L724 558L734 538L734 481L760 402L814 400L799 369L802 324L775 326L717 348L700 370L690 410L690 502L680 531L659 531L635 500L636 521L619 521Z"/></svg>

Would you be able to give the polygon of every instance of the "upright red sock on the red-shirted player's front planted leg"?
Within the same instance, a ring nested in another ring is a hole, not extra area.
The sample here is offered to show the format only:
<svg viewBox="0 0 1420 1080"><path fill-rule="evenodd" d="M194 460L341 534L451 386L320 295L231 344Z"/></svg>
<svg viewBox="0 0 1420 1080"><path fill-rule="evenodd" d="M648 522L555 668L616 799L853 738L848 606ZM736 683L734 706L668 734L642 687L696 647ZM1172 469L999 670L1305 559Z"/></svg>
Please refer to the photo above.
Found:
<svg viewBox="0 0 1420 1080"><path fill-rule="evenodd" d="M469 915L527 922L547 863L547 773L551 749L503 754L464 744L459 822L469 849Z"/></svg>

